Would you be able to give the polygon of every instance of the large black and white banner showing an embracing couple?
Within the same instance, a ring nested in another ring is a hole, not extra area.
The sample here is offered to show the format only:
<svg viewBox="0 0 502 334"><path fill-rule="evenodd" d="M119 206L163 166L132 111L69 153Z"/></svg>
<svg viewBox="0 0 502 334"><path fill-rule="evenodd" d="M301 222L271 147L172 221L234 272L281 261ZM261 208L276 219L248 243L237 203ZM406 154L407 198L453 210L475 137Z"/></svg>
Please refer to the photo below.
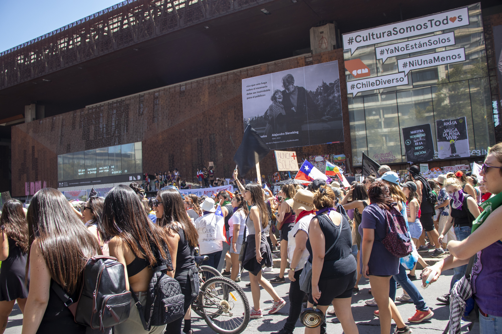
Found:
<svg viewBox="0 0 502 334"><path fill-rule="evenodd" d="M242 109L271 149L343 142L338 61L243 79Z"/></svg>

